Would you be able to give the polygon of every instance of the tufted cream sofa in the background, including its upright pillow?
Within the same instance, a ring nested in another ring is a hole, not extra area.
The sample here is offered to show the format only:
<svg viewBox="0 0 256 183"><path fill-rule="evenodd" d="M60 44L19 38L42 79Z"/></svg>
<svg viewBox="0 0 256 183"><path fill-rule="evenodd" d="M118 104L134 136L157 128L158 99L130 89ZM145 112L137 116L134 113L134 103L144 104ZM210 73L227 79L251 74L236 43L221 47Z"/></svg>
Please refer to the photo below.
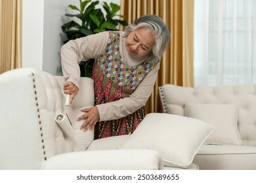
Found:
<svg viewBox="0 0 256 183"><path fill-rule="evenodd" d="M256 169L256 84L159 87L163 113L215 126L194 158L200 169Z"/></svg>

